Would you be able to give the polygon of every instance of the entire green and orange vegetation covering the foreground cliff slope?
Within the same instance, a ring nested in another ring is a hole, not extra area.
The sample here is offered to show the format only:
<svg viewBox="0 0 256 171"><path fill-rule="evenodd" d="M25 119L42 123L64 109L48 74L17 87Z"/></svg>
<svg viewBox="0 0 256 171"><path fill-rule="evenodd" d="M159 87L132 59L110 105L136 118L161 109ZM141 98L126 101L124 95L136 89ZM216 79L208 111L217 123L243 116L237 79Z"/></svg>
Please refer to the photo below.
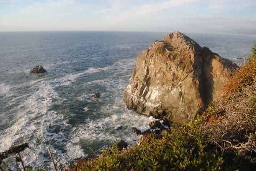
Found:
<svg viewBox="0 0 256 171"><path fill-rule="evenodd" d="M134 147L116 146L81 160L70 171L250 171L256 168L256 44L247 64L222 96L188 124L162 136L143 136Z"/></svg>

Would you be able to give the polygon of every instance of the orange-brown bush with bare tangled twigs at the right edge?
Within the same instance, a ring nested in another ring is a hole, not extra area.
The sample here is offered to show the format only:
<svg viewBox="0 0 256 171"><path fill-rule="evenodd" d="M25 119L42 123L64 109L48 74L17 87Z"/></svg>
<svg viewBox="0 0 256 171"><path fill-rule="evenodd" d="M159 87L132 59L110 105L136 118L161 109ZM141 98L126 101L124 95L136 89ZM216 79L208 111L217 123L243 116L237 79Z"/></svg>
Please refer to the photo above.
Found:
<svg viewBox="0 0 256 171"><path fill-rule="evenodd" d="M245 66L224 85L222 96L204 114L204 133L221 151L233 150L256 162L256 43Z"/></svg>

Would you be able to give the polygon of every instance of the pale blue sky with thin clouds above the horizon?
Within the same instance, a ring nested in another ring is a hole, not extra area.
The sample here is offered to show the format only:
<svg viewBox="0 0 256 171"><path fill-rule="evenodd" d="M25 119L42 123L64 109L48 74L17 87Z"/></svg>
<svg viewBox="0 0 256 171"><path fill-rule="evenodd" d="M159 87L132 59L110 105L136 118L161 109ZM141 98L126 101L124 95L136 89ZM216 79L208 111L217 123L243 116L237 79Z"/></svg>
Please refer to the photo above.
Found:
<svg viewBox="0 0 256 171"><path fill-rule="evenodd" d="M255 29L256 0L0 0L0 31Z"/></svg>

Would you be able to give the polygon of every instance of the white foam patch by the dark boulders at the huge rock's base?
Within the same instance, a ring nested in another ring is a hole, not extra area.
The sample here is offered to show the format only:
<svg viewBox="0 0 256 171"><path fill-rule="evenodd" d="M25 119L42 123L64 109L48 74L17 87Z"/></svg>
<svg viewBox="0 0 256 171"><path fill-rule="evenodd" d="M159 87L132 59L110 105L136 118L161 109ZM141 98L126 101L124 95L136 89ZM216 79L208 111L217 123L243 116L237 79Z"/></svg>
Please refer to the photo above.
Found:
<svg viewBox="0 0 256 171"><path fill-rule="evenodd" d="M132 127L135 126L141 131L145 131L149 128L148 123L155 120L155 118L148 118L136 114L133 111L125 110L122 114L113 114L109 117L98 120L87 120L87 124L80 125L73 129L71 141L79 143L84 140L109 140L118 141L123 139L130 145L134 145L134 139L138 139L132 132ZM117 125L122 125L121 131L115 131Z"/></svg>

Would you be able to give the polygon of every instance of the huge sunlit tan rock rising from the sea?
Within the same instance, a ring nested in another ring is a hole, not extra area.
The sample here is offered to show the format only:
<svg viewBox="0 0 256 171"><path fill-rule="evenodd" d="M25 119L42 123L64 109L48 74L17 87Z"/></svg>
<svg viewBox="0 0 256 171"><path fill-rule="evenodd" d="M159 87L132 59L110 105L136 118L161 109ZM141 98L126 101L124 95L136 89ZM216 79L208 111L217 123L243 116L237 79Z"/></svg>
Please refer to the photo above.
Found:
<svg viewBox="0 0 256 171"><path fill-rule="evenodd" d="M124 101L137 113L186 123L216 99L237 67L182 33L168 33L138 55Z"/></svg>

